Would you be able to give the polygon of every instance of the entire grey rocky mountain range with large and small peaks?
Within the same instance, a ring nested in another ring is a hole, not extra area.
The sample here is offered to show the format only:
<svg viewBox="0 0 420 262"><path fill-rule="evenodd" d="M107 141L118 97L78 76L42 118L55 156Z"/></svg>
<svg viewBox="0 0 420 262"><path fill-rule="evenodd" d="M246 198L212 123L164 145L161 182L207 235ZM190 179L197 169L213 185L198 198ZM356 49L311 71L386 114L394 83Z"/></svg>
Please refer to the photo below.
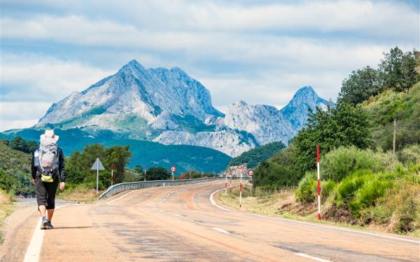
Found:
<svg viewBox="0 0 420 262"><path fill-rule="evenodd" d="M78 128L92 137L111 130L123 139L204 146L239 156L270 142L288 144L309 110L328 102L301 88L283 109L235 102L226 114L209 90L178 67L145 69L132 60L116 74L52 104L36 128Z"/></svg>

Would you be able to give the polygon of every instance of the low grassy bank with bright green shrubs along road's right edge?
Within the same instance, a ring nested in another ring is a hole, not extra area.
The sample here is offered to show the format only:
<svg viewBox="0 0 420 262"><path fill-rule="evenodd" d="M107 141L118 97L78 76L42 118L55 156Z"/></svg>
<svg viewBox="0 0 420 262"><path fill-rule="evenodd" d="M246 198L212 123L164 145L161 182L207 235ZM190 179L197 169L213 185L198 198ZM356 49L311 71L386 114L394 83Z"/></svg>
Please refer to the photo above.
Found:
<svg viewBox="0 0 420 262"><path fill-rule="evenodd" d="M420 237L420 146L401 151L401 162L391 158L355 148L321 158L321 222ZM237 188L227 197L219 194L236 208L238 198ZM308 172L297 188L270 191L246 184L242 205L247 212L317 221L316 172Z"/></svg>

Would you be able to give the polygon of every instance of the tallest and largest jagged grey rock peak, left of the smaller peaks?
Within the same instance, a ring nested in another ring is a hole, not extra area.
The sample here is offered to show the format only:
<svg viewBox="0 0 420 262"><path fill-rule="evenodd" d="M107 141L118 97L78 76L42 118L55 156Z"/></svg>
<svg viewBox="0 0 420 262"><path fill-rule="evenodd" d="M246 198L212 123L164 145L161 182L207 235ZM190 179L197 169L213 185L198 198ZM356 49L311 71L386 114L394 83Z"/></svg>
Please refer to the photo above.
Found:
<svg viewBox="0 0 420 262"><path fill-rule="evenodd" d="M145 69L131 60L116 74L53 104L39 123L60 123L92 110L98 112L99 107L103 113L135 114L155 128L176 127L174 119L169 119L172 116L193 116L203 121L208 116L224 116L212 106L209 90L181 68ZM80 122L78 126L86 124L86 120ZM97 120L87 123L98 124Z"/></svg>

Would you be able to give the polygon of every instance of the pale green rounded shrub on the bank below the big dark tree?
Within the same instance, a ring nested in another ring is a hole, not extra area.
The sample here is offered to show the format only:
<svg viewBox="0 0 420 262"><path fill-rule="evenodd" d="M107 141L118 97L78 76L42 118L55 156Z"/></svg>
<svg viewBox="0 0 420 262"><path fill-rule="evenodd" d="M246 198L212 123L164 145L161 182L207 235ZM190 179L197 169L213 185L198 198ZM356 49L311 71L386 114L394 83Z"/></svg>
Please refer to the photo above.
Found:
<svg viewBox="0 0 420 262"><path fill-rule="evenodd" d="M341 181L356 170L372 172L391 170L393 163L390 153L375 153L369 149L360 150L354 146L334 149L321 160L323 179L333 181Z"/></svg>

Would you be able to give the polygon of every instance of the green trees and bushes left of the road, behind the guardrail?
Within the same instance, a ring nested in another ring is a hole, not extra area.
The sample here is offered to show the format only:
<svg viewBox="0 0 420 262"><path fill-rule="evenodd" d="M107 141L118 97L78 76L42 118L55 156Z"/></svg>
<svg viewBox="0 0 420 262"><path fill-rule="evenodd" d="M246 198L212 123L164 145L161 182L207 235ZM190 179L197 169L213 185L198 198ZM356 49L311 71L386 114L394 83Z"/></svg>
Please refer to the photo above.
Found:
<svg viewBox="0 0 420 262"><path fill-rule="evenodd" d="M35 196L35 186L31 177L31 152L37 146L36 142L28 142L21 137L0 141L0 189L6 194L17 197ZM96 171L90 170L96 158L101 159L106 169L99 171L99 193L96 193ZM72 202L97 200L97 197L111 186L112 165L112 184L143 181L144 168L141 165L135 165L133 169L127 167L130 160L130 146L106 148L102 144L92 144L85 146L83 151L73 151L65 160L66 189L57 190L57 198ZM214 174L190 170L184 174L184 179L213 176ZM172 174L163 167L149 167L146 170L146 180L164 180L171 177ZM180 175L174 179L180 179Z"/></svg>

